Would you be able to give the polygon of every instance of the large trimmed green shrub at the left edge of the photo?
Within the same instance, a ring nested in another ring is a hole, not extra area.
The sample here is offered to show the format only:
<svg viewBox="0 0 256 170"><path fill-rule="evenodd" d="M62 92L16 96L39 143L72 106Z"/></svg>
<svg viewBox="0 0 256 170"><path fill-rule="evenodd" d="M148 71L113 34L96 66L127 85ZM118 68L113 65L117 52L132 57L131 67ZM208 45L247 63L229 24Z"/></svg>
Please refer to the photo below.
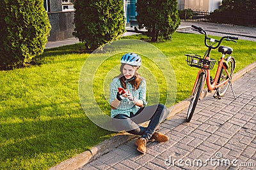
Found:
<svg viewBox="0 0 256 170"><path fill-rule="evenodd" d="M31 62L51 30L43 0L0 1L0 69Z"/></svg>

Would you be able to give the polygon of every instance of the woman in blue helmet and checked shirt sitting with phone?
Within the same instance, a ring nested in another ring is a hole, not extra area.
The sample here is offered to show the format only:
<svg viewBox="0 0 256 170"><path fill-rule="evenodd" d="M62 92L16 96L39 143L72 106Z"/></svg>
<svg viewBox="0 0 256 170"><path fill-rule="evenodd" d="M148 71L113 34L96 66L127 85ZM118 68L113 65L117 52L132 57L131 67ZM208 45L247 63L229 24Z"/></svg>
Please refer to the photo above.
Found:
<svg viewBox="0 0 256 170"><path fill-rule="evenodd" d="M122 56L121 64L120 74L113 78L110 84L111 117L124 120L121 124L115 122L116 127L131 134L140 135L136 140L137 150L146 153L149 140L168 141L168 136L156 132L156 129L170 111L163 104L145 106L147 104L146 81L138 74L141 66L139 55L126 53ZM148 120L150 122L147 127L138 125Z"/></svg>

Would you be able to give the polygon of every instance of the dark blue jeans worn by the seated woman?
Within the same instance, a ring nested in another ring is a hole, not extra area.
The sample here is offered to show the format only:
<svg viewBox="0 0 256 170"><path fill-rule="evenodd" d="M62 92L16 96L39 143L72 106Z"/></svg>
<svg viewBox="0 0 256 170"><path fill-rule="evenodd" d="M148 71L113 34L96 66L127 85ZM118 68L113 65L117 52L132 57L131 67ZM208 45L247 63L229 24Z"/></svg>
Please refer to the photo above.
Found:
<svg viewBox="0 0 256 170"><path fill-rule="evenodd" d="M163 122L169 115L170 111L166 109L163 104L157 104L154 106L146 106L140 108L135 114L131 112L130 117L127 115L118 114L114 118L126 119L124 127L134 127L133 130L127 131L130 134L141 135L141 138L150 139L156 131L157 127ZM150 120L148 127L141 127L140 123Z"/></svg>

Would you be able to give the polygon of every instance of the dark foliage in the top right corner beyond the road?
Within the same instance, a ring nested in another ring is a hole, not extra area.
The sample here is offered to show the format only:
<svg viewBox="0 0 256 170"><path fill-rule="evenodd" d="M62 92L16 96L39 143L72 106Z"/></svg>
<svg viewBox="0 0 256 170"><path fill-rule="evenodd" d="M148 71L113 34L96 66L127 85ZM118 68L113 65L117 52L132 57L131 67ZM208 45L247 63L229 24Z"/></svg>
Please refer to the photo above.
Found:
<svg viewBox="0 0 256 170"><path fill-rule="evenodd" d="M210 15L212 22L236 25L256 25L255 0L223 0L219 10Z"/></svg>

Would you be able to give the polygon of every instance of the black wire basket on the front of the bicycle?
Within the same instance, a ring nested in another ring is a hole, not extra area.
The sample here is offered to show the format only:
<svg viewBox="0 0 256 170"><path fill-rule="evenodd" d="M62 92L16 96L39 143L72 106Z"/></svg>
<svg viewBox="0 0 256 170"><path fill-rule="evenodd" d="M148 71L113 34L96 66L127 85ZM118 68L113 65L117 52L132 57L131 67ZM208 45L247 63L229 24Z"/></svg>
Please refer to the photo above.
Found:
<svg viewBox="0 0 256 170"><path fill-rule="evenodd" d="M200 69L212 69L216 60L205 60L200 55L196 54L185 54L187 56L187 64L191 67L197 67Z"/></svg>

